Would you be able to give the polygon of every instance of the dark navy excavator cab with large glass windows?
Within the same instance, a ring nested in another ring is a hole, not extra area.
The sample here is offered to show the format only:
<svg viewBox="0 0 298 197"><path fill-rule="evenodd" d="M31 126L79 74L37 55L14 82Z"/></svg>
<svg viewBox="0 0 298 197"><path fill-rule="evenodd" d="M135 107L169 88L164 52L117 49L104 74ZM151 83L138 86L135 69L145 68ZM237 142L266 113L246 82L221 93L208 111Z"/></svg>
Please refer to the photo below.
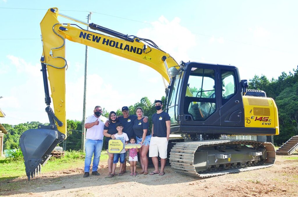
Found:
<svg viewBox="0 0 298 197"><path fill-rule="evenodd" d="M182 64L170 84L167 112L171 117L171 133L194 137L210 134L212 139L220 134L259 134L258 129L246 127L244 90L235 66ZM274 135L276 130L262 128L262 132Z"/></svg>

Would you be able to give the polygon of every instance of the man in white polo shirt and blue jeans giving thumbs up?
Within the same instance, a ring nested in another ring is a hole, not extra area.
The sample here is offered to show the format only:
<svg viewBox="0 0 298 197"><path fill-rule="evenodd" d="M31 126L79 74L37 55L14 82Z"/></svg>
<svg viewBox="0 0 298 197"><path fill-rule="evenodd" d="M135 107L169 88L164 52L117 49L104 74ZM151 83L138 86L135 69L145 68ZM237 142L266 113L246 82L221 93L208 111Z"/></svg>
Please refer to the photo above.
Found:
<svg viewBox="0 0 298 197"><path fill-rule="evenodd" d="M92 165L92 175L100 175L97 172L99 158L101 149L103 148L103 127L107 118L101 115L102 109L100 106L95 106L94 114L89 116L85 121L86 132L86 142L85 142L85 168L84 176L89 176L91 158L94 154L93 165Z"/></svg>

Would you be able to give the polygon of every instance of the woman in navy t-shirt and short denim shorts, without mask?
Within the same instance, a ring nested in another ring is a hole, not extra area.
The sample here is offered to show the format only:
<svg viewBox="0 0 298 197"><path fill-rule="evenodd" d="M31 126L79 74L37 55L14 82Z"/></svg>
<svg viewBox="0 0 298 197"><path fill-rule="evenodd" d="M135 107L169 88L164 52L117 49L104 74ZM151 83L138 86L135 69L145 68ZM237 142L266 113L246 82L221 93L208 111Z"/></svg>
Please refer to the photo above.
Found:
<svg viewBox="0 0 298 197"><path fill-rule="evenodd" d="M134 120L133 129L134 135L136 136L136 143L141 144L142 147L139 149L140 162L142 166L142 172L139 174L148 174L148 157L147 153L149 150L151 134L149 132L149 123L143 122L143 109L142 107L136 108L137 118Z"/></svg>

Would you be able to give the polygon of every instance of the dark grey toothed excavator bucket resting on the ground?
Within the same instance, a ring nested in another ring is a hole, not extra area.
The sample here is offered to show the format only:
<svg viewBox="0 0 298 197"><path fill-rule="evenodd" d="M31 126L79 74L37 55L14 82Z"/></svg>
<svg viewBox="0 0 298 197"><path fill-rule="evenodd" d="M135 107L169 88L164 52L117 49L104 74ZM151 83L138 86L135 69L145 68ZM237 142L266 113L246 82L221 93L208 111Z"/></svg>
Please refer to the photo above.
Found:
<svg viewBox="0 0 298 197"><path fill-rule="evenodd" d="M65 135L52 129L29 129L20 137L20 146L24 156L28 179L41 172L41 165L52 156L55 146Z"/></svg>

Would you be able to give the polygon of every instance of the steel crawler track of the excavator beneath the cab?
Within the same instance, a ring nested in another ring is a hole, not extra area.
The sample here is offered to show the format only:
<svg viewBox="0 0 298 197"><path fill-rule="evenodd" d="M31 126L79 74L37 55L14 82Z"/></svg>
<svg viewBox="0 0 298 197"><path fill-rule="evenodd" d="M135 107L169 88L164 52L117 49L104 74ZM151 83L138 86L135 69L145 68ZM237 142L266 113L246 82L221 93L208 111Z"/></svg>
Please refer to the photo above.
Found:
<svg viewBox="0 0 298 197"><path fill-rule="evenodd" d="M268 168L274 161L271 143L252 140L181 142L170 152L174 171L201 178Z"/></svg>

